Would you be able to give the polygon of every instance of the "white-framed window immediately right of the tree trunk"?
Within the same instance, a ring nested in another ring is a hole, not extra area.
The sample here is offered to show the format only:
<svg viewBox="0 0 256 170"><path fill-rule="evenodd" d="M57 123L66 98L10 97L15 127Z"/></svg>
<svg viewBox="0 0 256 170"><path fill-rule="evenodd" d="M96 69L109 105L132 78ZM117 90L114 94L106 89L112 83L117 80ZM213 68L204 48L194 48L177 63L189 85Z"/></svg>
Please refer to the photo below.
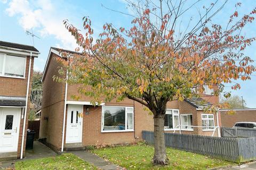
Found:
<svg viewBox="0 0 256 170"><path fill-rule="evenodd" d="M177 127L177 125L180 124L179 122L180 122L179 110L166 109L166 113L165 113L165 117L164 117L164 129L165 130L173 130Z"/></svg>

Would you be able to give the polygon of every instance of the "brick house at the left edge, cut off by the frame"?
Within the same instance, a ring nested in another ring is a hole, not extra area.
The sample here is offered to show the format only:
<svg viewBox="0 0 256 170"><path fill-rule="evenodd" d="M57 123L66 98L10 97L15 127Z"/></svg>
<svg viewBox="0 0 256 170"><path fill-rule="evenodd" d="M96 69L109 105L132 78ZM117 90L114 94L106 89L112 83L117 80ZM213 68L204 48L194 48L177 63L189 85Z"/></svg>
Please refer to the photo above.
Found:
<svg viewBox="0 0 256 170"><path fill-rule="evenodd" d="M33 46L0 41L0 159L25 156Z"/></svg>

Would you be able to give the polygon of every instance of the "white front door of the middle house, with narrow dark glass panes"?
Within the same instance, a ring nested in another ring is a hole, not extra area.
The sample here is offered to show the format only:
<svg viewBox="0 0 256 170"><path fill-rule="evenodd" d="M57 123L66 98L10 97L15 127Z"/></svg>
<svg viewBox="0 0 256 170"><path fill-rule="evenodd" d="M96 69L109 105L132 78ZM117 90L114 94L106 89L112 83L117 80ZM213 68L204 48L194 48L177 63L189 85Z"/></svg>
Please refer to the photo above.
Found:
<svg viewBox="0 0 256 170"><path fill-rule="evenodd" d="M83 105L68 105L66 143L82 142Z"/></svg>

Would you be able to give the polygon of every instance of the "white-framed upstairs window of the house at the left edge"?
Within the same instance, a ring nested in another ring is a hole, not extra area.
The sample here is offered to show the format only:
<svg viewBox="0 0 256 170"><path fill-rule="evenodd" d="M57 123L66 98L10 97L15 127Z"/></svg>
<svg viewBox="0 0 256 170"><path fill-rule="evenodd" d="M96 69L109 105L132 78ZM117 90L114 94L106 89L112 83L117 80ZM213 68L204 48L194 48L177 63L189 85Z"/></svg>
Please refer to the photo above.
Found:
<svg viewBox="0 0 256 170"><path fill-rule="evenodd" d="M26 57L0 54L0 76L25 78Z"/></svg>

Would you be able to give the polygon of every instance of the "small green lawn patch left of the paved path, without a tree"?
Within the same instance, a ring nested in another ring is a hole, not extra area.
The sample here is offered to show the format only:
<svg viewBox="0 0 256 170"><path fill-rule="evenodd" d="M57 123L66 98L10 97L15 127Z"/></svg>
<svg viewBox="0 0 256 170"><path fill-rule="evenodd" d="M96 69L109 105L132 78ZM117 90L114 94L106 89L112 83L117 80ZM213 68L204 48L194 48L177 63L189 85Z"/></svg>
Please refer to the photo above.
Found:
<svg viewBox="0 0 256 170"><path fill-rule="evenodd" d="M57 157L25 160L15 163L15 170L30 169L98 169L84 162L73 154L62 154Z"/></svg>

